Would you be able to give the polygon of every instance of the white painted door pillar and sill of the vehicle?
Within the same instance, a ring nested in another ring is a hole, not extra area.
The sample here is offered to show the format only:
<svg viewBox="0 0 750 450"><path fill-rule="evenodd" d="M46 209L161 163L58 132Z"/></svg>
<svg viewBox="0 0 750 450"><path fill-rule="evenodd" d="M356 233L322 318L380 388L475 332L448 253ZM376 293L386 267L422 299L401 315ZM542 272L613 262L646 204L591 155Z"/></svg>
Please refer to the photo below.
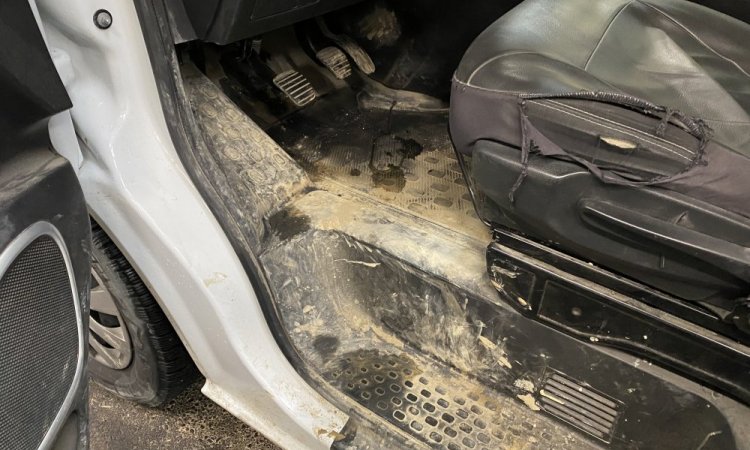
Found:
<svg viewBox="0 0 750 450"><path fill-rule="evenodd" d="M348 416L287 361L239 258L174 149L132 2L38 0L73 101L53 140L99 221L206 377L203 392L284 448L328 448ZM113 24L98 29L106 7ZM63 144L64 142L64 144Z"/></svg>

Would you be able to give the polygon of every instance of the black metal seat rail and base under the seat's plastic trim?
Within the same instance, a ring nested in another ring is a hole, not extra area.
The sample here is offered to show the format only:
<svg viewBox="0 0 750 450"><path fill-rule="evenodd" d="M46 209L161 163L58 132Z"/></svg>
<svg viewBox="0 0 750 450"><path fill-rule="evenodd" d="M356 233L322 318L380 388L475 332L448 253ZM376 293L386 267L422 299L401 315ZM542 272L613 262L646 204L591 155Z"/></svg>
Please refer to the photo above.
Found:
<svg viewBox="0 0 750 450"><path fill-rule="evenodd" d="M495 232L487 264L500 297L525 316L750 401L750 382L737 376L750 369L750 335L709 312L513 232Z"/></svg>

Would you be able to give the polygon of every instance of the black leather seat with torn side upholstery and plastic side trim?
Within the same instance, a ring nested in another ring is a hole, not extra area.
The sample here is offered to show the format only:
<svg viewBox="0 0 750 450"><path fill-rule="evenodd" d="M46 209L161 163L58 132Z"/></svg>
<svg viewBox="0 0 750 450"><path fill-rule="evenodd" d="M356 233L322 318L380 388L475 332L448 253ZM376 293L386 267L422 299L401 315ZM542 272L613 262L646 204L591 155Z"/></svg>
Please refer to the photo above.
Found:
<svg viewBox="0 0 750 450"><path fill-rule="evenodd" d="M749 41L684 0L526 0L453 80L481 215L675 296L746 302Z"/></svg>

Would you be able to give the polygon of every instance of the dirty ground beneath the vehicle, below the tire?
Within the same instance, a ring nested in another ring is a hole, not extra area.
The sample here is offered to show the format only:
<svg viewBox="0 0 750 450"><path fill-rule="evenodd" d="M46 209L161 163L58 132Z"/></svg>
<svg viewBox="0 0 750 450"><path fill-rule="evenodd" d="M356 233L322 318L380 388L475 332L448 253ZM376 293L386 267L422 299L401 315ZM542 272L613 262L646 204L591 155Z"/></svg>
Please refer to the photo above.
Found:
<svg viewBox="0 0 750 450"><path fill-rule="evenodd" d="M277 450L200 392L186 390L161 409L122 400L90 383L91 450Z"/></svg>

